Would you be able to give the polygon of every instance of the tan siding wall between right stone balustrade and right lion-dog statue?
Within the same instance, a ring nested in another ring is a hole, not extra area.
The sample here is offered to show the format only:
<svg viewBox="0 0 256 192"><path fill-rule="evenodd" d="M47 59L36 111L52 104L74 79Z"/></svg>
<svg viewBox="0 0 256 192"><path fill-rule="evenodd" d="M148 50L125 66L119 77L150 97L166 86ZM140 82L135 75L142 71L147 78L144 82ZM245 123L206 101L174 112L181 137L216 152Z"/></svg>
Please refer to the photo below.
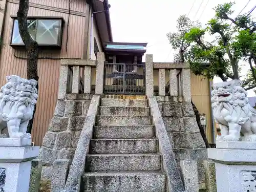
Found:
<svg viewBox="0 0 256 192"><path fill-rule="evenodd" d="M206 137L213 143L209 80L191 73L191 97L200 114L206 115Z"/></svg>

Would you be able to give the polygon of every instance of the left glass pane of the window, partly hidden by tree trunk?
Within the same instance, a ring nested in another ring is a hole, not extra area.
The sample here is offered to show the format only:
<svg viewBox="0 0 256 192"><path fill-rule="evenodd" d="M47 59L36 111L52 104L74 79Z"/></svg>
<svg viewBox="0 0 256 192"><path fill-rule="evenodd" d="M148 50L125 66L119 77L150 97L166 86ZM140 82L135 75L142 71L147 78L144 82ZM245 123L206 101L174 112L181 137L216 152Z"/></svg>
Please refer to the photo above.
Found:
<svg viewBox="0 0 256 192"><path fill-rule="evenodd" d="M33 40L35 40L36 20L27 20L27 23L28 23L28 30L29 30L30 36ZM22 37L20 37L20 35L19 35L17 19L14 20L13 33L12 33L12 44L24 44Z"/></svg>

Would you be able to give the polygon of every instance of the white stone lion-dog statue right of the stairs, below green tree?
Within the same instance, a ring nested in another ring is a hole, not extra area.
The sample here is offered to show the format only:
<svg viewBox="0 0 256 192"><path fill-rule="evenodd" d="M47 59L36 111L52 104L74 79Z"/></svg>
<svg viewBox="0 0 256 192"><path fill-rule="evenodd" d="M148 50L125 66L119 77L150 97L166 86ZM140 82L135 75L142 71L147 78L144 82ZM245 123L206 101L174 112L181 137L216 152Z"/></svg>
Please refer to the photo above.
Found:
<svg viewBox="0 0 256 192"><path fill-rule="evenodd" d="M256 141L256 110L248 103L241 80L214 84L211 106L220 125L217 141Z"/></svg>

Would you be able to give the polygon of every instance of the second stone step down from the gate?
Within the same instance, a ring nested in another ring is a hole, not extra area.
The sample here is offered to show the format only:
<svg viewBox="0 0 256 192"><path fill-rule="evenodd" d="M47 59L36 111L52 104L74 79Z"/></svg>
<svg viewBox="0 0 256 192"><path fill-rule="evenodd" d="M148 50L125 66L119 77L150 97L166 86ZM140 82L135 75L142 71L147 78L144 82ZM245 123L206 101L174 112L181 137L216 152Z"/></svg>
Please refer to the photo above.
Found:
<svg viewBox="0 0 256 192"><path fill-rule="evenodd" d="M112 116L112 115L121 115L121 116L148 116L150 115L150 108L145 106L100 106L99 114Z"/></svg>

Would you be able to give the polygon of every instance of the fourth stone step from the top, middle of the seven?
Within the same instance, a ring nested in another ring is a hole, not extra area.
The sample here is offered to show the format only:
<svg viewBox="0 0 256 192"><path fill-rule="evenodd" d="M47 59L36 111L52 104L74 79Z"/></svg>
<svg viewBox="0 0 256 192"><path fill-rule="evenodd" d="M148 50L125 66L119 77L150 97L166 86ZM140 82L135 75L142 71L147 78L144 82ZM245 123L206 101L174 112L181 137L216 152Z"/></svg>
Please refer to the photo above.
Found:
<svg viewBox="0 0 256 192"><path fill-rule="evenodd" d="M138 126L94 126L94 139L152 138L155 136L153 125Z"/></svg>

